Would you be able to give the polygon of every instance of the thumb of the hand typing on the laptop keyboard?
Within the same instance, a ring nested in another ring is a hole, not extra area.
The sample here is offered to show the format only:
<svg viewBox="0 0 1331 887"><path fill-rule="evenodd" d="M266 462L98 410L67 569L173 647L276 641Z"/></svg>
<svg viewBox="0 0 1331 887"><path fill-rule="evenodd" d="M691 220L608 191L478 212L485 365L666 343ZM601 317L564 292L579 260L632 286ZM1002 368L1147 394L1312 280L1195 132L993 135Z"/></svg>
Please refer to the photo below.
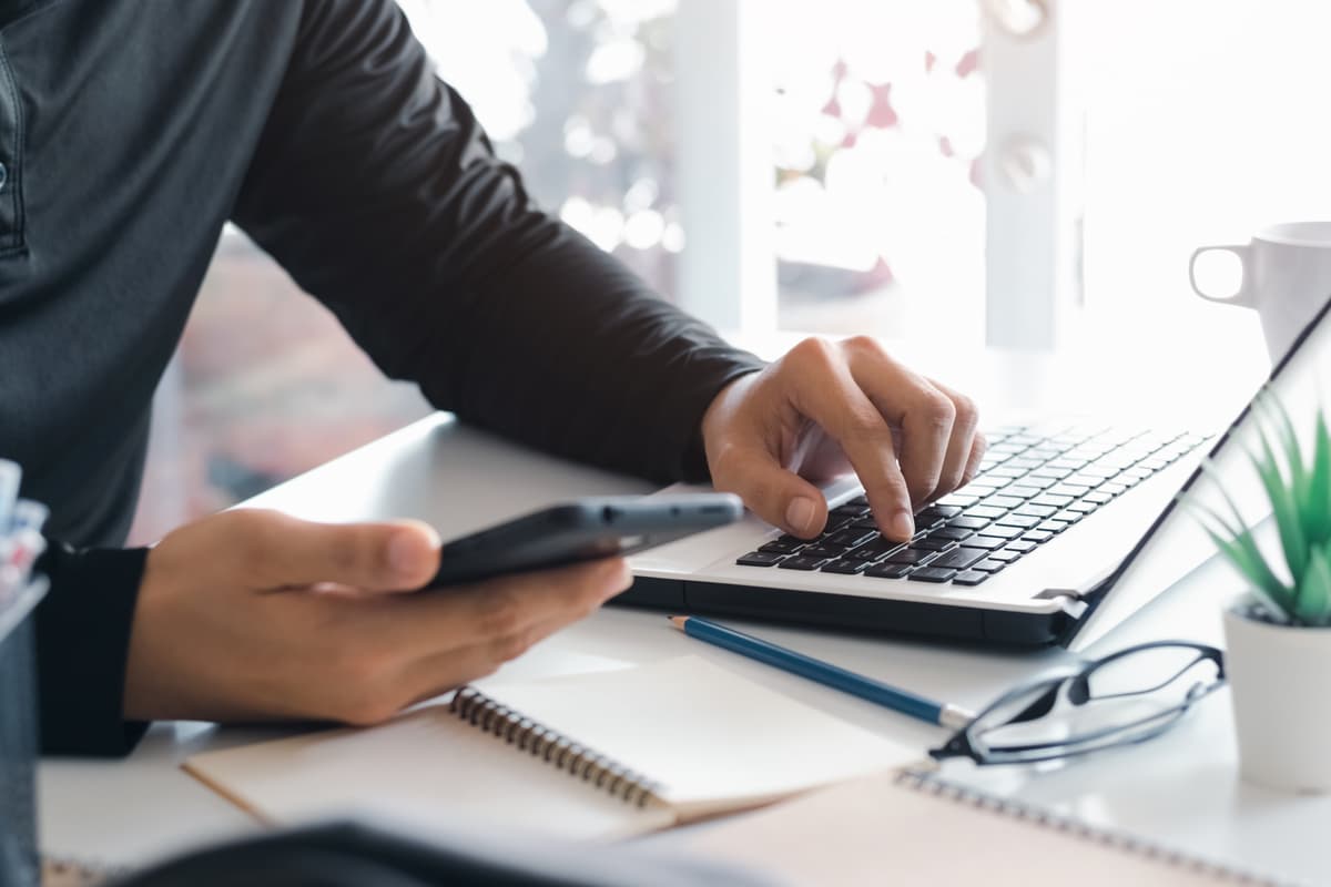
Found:
<svg viewBox="0 0 1331 887"><path fill-rule="evenodd" d="M739 495L767 523L801 539L816 536L828 523L823 492L784 468L767 449L732 451L724 465L713 469L712 483Z"/></svg>

